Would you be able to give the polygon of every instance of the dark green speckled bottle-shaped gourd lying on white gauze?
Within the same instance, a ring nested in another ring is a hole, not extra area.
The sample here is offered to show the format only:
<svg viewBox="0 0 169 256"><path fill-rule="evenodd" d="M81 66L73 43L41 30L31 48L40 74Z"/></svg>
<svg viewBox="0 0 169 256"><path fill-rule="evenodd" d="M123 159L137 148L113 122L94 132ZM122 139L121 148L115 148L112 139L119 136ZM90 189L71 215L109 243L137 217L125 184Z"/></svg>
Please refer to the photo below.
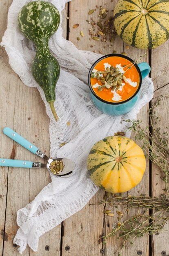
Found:
<svg viewBox="0 0 169 256"><path fill-rule="evenodd" d="M58 9L49 2L36 1L24 5L18 14L19 28L36 45L32 74L43 89L47 102L56 121L58 115L54 108L56 83L60 76L60 65L49 50L49 38L60 24Z"/></svg>

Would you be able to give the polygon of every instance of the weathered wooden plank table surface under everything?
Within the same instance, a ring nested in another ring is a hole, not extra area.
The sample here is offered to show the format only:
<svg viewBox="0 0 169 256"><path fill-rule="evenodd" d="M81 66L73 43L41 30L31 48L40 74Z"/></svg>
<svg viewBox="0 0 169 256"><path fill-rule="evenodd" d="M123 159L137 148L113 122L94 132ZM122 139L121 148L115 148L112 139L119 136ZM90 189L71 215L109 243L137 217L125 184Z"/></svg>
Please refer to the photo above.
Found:
<svg viewBox="0 0 169 256"><path fill-rule="evenodd" d="M0 1L0 39L7 27L7 13L12 0ZM147 126L149 124L148 109L154 103L158 96L169 93L169 41L164 45L151 50L139 50L133 47L126 49L126 44L120 38L116 38L113 46L109 43L101 43L89 40L89 9L95 9L104 5L112 14L112 9L116 0L73 0L67 4L62 12L63 15L63 36L71 40L76 47L82 50L96 52L102 51L104 54L112 53L116 50L118 53L127 52L133 59L147 52L147 61L151 65L151 74L154 83L154 98L151 103L144 106L138 114L138 119ZM69 17L69 20L67 19ZM91 16L96 18L96 14ZM79 23L77 29L73 25ZM79 32L82 30L85 34L80 41L77 40ZM90 46L94 45L93 48ZM9 126L18 131L29 141L38 145L40 149L46 150L49 154L49 118L40 94L36 88L25 86L18 75L13 72L9 63L8 56L4 48L0 48L0 149L1 157L11 159L38 160L31 153L12 142L2 132L5 126ZM164 98L158 108L158 116L161 119L161 128L169 126L169 99ZM43 122L42 122L43 120ZM160 175L155 175L158 168L147 161L147 169L142 182L130 194L139 195L159 195L162 193L164 184L160 180ZM13 245L13 238L18 230L16 223L16 214L18 209L25 207L31 202L42 188L50 182L48 171L45 170L25 170L22 168L0 168L0 253L4 256L19 255L17 248ZM128 194L128 193L127 193ZM102 200L103 191L91 199L90 203ZM99 236L108 234L113 225L117 224L117 216L113 218L105 217L102 214L103 206L88 204L71 218L65 220L58 227L49 231L40 237L38 252L33 252L29 247L23 252L23 256L113 256L116 249L120 246L120 240L113 237L108 240L107 245L102 245L98 241ZM113 209L112 209L113 211ZM121 211L123 208L121 208ZM134 210L125 213L124 218L136 213ZM102 254L100 252L102 249ZM105 251L105 253L104 253ZM166 252L166 253L165 253ZM142 254L141 254L142 253ZM117 254L116 254L117 255ZM169 255L169 223L158 236L144 236L135 240L133 246L127 244L124 248L125 256L160 256Z"/></svg>

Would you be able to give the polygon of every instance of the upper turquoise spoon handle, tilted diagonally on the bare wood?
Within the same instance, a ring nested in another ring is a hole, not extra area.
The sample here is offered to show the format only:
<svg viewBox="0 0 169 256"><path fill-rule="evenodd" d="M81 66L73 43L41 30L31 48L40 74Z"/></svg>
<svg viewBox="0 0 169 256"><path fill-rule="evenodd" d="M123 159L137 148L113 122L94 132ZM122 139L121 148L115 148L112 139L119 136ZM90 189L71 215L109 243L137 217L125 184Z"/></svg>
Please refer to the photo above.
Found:
<svg viewBox="0 0 169 256"><path fill-rule="evenodd" d="M20 136L17 132L14 132L11 128L9 127L5 127L4 128L4 134L7 135L9 138L13 139L14 141L16 141L18 144L20 144L21 146L23 146L24 148L28 149L29 151L31 151L33 154L35 154L37 152L37 150L39 150L36 146L34 146L33 144L31 144L29 141L27 141L26 139L24 139L22 136ZM19 167L19 166L16 166ZM30 168L30 167L29 167Z"/></svg>

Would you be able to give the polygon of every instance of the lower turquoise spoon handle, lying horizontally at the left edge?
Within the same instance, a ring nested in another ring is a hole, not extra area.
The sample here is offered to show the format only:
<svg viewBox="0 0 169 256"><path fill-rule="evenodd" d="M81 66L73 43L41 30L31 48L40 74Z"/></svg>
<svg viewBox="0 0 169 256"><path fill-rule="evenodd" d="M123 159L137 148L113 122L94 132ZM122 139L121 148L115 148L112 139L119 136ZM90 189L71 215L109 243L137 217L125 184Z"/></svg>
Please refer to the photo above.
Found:
<svg viewBox="0 0 169 256"><path fill-rule="evenodd" d="M33 162L0 158L0 166L32 168Z"/></svg>

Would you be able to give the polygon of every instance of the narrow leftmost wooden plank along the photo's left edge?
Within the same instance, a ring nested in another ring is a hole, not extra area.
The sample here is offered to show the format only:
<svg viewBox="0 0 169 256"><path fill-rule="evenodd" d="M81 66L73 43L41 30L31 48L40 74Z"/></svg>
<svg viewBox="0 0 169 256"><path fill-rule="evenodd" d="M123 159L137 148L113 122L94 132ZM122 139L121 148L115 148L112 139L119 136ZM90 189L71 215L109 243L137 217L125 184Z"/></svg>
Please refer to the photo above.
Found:
<svg viewBox="0 0 169 256"><path fill-rule="evenodd" d="M2 15L0 16L0 23L2 28L0 29L0 41L4 34L4 31L7 27L7 11L11 4L12 0L9 1L1 1L0 8L2 10ZM9 73L11 73L11 68L8 65L7 54L4 49L0 47L0 120L1 120L1 138L0 138L0 148L1 154L0 157L7 157L7 155L11 154L13 144L9 143L6 140L6 137L2 134L3 127L6 126L7 120L8 124L12 125L13 113L14 110L12 108L11 100L9 99ZM14 74L10 75L11 81L13 83L17 83L18 78ZM12 97L15 97L15 90L12 90ZM7 103L8 104L7 104ZM5 104L6 103L6 104ZM8 115L7 115L8 114ZM7 184L8 184L8 168L0 168L0 255L2 255L3 243L4 239L7 240L8 236L4 233L4 223L5 223L5 213L6 213L6 200L7 200Z"/></svg>

